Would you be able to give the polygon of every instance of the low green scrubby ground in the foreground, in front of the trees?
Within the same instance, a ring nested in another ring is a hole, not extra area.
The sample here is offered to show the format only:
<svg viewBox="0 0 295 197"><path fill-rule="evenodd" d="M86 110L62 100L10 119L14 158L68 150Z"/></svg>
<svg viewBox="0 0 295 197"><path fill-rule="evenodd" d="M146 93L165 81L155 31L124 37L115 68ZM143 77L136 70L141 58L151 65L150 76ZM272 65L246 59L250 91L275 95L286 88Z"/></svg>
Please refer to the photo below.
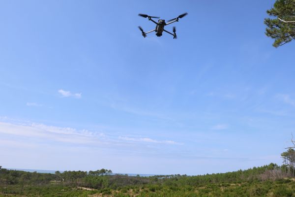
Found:
<svg viewBox="0 0 295 197"><path fill-rule="evenodd" d="M1 188L0 197L295 197L295 182L290 180L208 184L199 187L145 185L117 190L66 187L59 185Z"/></svg>

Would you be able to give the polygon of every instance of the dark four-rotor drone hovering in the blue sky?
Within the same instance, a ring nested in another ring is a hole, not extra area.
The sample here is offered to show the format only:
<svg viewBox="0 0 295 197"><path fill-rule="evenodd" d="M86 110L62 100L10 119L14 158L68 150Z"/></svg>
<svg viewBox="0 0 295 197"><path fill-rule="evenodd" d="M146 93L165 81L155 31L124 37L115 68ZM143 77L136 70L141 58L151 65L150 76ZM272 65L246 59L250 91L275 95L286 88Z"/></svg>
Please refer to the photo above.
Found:
<svg viewBox="0 0 295 197"><path fill-rule="evenodd" d="M187 13L181 14L181 15L177 16L176 18L167 21L168 23L165 23L165 20L161 20L161 19L159 19L160 17L157 17L157 16L148 16L147 14L138 14L138 15L142 16L144 18L148 18L149 21L156 24L156 28L154 30L149 31L149 32L144 32L144 30L140 26L138 26L138 28L140 29L140 31L142 32L142 35L144 37L147 37L147 34L151 33L151 32L156 32L156 36L160 37L160 36L162 36L163 32L166 32L166 33L173 35L173 39L176 39L177 38L176 28L173 27L173 33L170 33L168 31L164 30L164 27L166 25L170 25L171 23L178 22L178 19L186 16ZM152 18L158 18L159 20L158 20L158 22L155 22L154 20L152 20Z"/></svg>

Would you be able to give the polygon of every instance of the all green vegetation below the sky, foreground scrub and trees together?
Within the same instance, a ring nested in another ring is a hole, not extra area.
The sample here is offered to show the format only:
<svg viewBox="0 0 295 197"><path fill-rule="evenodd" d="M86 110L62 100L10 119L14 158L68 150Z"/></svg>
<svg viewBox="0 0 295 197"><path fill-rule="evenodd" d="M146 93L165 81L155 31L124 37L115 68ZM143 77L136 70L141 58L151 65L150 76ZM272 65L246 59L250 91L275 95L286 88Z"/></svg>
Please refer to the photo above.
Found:
<svg viewBox="0 0 295 197"><path fill-rule="evenodd" d="M46 174L0 167L0 197L295 197L292 150L282 153L282 166L198 176L111 175L106 169Z"/></svg>

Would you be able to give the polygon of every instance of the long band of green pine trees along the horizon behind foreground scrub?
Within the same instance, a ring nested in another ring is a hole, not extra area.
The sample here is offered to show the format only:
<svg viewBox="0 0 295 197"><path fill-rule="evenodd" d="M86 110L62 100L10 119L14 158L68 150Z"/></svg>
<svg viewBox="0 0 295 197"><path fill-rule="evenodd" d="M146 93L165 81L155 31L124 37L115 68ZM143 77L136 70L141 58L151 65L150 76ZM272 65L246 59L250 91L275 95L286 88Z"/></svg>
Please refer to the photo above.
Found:
<svg viewBox="0 0 295 197"><path fill-rule="evenodd" d="M0 187L7 185L44 185L50 181L55 185L82 186L94 189L118 189L126 186L157 185L169 187L199 187L216 183L242 183L282 179L288 175L285 165L269 164L227 173L187 175L158 175L150 177L112 174L112 170L96 171L56 171L55 174L24 172L0 168Z"/></svg>

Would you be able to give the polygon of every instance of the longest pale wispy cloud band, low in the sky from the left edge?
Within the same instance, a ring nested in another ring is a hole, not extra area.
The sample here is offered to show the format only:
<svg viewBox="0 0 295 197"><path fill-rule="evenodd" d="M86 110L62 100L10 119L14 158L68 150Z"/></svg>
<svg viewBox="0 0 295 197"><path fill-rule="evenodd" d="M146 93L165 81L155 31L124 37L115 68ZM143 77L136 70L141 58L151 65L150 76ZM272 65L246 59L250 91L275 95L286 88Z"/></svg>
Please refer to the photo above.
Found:
<svg viewBox="0 0 295 197"><path fill-rule="evenodd" d="M4 121L4 122L3 122ZM9 138L18 140L23 137L29 139L45 140L46 142L63 142L70 144L84 144L97 146L108 144L110 147L118 145L126 145L126 141L138 141L147 143L161 144L179 144L172 140L155 140L149 137L131 138L122 136L107 135L102 131L77 130L71 127L56 127L40 123L31 123L24 121L9 120L7 118L0 119L0 136L9 136Z"/></svg>

